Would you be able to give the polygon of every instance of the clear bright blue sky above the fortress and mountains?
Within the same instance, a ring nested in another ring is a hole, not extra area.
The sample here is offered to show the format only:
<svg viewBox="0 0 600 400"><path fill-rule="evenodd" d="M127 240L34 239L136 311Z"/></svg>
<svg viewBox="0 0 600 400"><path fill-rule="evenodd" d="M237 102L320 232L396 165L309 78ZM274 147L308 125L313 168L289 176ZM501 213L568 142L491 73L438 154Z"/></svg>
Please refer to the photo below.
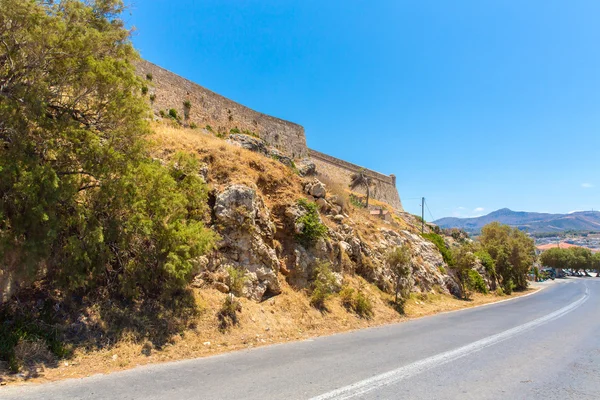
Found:
<svg viewBox="0 0 600 400"><path fill-rule="evenodd" d="M600 1L137 1L142 56L397 176L407 211L600 209Z"/></svg>

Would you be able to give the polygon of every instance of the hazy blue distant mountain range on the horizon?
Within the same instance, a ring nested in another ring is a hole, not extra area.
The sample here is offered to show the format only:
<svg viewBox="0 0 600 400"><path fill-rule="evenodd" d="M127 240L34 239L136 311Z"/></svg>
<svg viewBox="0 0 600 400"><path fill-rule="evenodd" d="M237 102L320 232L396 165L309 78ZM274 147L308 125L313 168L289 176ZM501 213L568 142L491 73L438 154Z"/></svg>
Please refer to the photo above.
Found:
<svg viewBox="0 0 600 400"><path fill-rule="evenodd" d="M518 227L521 230L540 232L600 231L600 211L578 211L570 214L547 214L512 211L508 208L476 218L441 218L433 221L441 228L460 228L469 233L479 233L490 222Z"/></svg>

